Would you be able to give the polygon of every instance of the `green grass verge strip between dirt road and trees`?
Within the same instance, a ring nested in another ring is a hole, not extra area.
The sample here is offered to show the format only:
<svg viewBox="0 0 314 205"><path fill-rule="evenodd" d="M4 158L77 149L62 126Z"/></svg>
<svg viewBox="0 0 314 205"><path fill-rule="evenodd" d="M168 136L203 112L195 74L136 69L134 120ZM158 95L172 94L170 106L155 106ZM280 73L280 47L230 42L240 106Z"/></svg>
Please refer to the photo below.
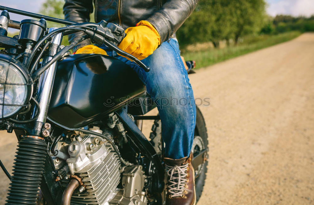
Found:
<svg viewBox="0 0 314 205"><path fill-rule="evenodd" d="M210 48L202 51L182 51L181 55L186 60L195 60L197 68L203 68L221 61L235 58L237 56L250 53L278 43L286 42L301 35L299 31L291 31L278 35L263 35L247 37L237 46L225 48Z"/></svg>

